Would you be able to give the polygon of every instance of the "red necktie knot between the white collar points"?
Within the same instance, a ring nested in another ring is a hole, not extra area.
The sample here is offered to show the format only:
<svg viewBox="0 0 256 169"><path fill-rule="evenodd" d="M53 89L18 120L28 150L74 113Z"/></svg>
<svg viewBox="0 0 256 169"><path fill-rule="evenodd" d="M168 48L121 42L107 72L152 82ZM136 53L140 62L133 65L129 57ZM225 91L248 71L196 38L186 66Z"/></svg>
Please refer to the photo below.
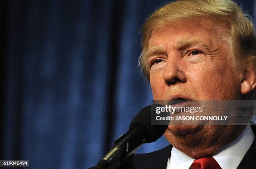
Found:
<svg viewBox="0 0 256 169"><path fill-rule="evenodd" d="M189 169L221 169L221 167L212 156L208 156L196 159Z"/></svg>

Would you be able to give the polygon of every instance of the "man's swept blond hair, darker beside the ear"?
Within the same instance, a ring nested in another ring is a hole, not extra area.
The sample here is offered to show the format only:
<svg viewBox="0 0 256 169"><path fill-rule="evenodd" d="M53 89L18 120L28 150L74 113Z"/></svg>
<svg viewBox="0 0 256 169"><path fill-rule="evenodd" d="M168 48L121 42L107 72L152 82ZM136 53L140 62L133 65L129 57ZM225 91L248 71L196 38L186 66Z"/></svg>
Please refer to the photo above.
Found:
<svg viewBox="0 0 256 169"><path fill-rule="evenodd" d="M170 2L151 14L143 25L142 53L138 63L149 78L148 63L144 55L148 51L149 38L159 27L169 22L190 17L207 17L225 27L223 39L228 42L233 68L243 79L246 63L256 64L256 40L251 17L231 0L179 0Z"/></svg>

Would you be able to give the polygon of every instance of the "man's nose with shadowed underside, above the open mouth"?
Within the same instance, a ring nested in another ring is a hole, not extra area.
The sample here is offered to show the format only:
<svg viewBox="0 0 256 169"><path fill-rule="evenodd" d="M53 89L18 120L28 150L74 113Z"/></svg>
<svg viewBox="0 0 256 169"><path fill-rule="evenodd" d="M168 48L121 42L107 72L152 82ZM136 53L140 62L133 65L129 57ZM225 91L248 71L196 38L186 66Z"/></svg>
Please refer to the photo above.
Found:
<svg viewBox="0 0 256 169"><path fill-rule="evenodd" d="M168 55L163 78L166 85L186 82L186 76L182 71L182 57L178 53Z"/></svg>

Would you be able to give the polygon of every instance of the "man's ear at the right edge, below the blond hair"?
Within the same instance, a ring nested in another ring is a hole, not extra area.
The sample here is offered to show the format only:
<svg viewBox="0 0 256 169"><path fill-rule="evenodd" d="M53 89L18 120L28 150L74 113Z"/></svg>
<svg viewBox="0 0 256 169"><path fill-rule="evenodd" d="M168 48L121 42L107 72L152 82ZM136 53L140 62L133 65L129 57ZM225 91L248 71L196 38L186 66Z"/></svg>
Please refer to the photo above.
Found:
<svg viewBox="0 0 256 169"><path fill-rule="evenodd" d="M256 87L256 66L249 62L246 71L243 73L241 81L241 94L245 95L253 91Z"/></svg>

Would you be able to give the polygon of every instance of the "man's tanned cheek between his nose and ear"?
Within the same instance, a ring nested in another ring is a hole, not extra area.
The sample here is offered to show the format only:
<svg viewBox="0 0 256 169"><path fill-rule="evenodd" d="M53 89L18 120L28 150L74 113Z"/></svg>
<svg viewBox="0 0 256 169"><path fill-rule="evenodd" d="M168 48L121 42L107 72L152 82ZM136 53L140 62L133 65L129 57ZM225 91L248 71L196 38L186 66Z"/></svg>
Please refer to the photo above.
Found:
<svg viewBox="0 0 256 169"><path fill-rule="evenodd" d="M198 99L237 99L238 83L229 65L207 64L190 70L188 82L198 92Z"/></svg>

